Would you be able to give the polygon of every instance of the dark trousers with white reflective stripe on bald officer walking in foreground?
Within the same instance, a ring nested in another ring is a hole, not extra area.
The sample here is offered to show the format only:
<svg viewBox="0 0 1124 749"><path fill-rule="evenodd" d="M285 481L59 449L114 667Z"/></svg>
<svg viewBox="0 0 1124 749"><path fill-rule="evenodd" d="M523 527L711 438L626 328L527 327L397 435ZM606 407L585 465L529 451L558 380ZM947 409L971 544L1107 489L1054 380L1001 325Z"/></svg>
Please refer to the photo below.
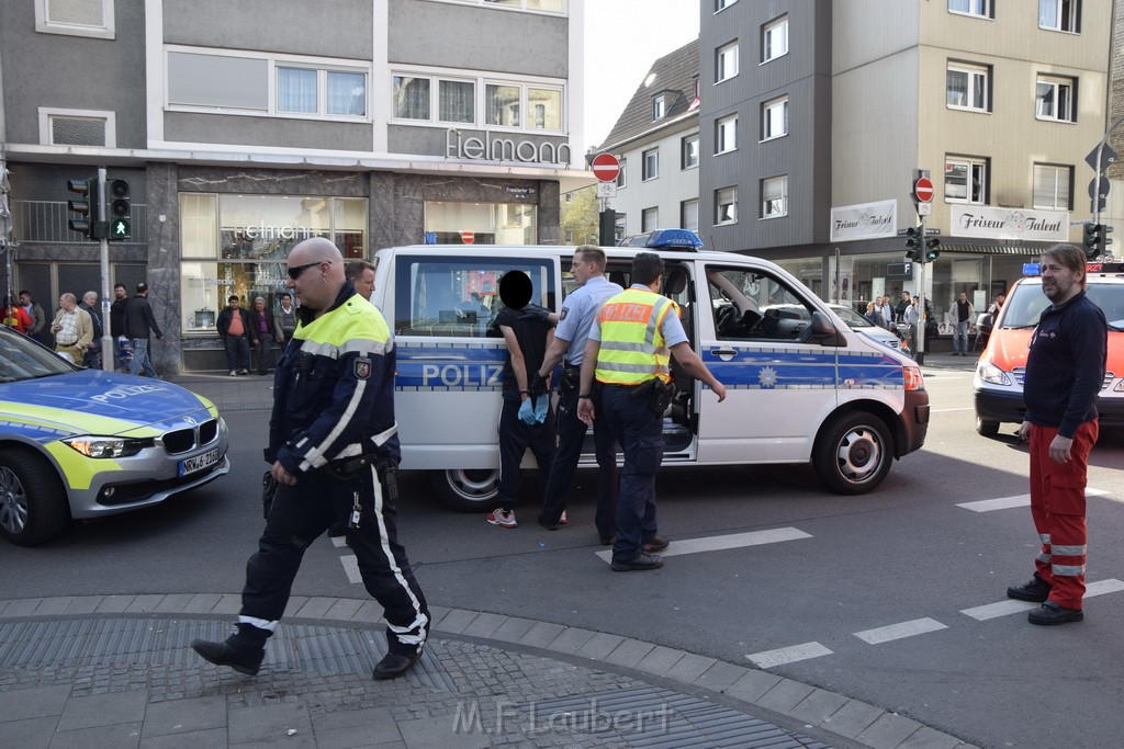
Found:
<svg viewBox="0 0 1124 749"><path fill-rule="evenodd" d="M266 622L281 619L305 550L336 519L347 526L357 491L360 527L347 529L347 545L359 559L363 585L386 610L390 651L413 654L429 632L429 610L398 542L395 497L388 496L387 484L386 476L368 467L348 481L314 471L294 486L279 486L257 551L246 565L239 613Z"/></svg>

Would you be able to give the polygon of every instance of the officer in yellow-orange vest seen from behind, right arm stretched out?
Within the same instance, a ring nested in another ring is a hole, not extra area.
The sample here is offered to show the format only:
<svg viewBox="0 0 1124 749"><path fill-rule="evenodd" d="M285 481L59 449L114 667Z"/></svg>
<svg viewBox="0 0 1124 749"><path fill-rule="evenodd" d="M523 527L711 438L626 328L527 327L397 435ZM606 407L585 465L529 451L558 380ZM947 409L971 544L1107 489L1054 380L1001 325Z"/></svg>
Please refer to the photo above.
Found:
<svg viewBox="0 0 1124 749"><path fill-rule="evenodd" d="M581 364L578 417L593 422L593 378L600 386L599 417L609 422L625 454L617 502L613 569L655 569L653 554L668 541L656 531L655 472L663 459L663 414L653 409L653 380L668 383L669 349L692 377L726 400L726 389L691 350L679 322L679 305L661 296L663 261L653 253L633 258L631 289L601 305L589 331Z"/></svg>

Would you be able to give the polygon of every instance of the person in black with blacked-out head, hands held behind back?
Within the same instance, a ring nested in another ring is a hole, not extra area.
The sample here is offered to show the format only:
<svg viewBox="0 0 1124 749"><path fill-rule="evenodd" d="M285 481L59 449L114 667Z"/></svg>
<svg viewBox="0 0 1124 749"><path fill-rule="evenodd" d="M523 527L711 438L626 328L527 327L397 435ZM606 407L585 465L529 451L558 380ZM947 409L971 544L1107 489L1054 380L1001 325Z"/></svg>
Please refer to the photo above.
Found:
<svg viewBox="0 0 1124 749"><path fill-rule="evenodd" d="M554 323L546 309L531 304L533 293L531 278L523 271L508 271L499 280L504 309L496 318L496 327L507 344L499 415L500 506L489 512L487 519L500 528L515 528L517 524L515 495L519 491L519 464L527 448L535 456L544 485L550 484L551 465L554 463L551 395L545 389L537 395L531 393L531 381L543 365Z"/></svg>

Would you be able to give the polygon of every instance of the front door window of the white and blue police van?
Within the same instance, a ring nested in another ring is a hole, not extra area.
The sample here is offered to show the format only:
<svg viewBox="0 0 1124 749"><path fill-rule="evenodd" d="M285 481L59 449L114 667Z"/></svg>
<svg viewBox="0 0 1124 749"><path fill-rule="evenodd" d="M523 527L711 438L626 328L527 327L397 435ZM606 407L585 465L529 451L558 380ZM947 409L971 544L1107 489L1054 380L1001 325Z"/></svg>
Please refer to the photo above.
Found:
<svg viewBox="0 0 1124 749"><path fill-rule="evenodd" d="M718 339L800 340L813 308L789 282L764 271L707 268Z"/></svg>

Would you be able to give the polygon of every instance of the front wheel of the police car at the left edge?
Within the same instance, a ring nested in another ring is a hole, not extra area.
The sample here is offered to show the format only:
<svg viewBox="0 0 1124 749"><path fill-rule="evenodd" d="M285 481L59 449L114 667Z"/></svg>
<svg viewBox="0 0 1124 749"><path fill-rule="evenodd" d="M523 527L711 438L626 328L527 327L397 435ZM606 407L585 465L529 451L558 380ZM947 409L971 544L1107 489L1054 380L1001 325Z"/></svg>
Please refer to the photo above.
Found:
<svg viewBox="0 0 1124 749"><path fill-rule="evenodd" d="M0 450L0 536L36 546L65 526L66 495L55 469L27 450Z"/></svg>

